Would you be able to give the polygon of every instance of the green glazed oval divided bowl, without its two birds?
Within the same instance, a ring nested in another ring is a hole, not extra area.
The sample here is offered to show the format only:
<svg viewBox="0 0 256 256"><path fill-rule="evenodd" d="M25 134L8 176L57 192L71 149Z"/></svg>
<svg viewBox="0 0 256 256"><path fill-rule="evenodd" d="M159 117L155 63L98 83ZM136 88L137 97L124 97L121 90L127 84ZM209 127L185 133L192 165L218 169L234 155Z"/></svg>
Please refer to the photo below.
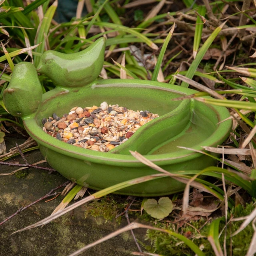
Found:
<svg viewBox="0 0 256 256"><path fill-rule="evenodd" d="M102 50L102 49L101 49ZM47 53L47 52L46 52ZM102 57L103 58L103 57ZM74 85L74 84L72 84ZM232 121L226 108L195 100L172 101L196 91L180 86L145 80L97 80L85 86L57 86L43 94L38 110L23 118L30 136L40 145L47 162L66 178L97 190L157 173L134 158L136 150L170 172L202 170L215 160L177 146L202 150L217 146L230 132ZM127 142L107 153L79 148L46 134L42 118L62 116L74 106L99 106L101 102L119 104L133 110L150 110L159 118L142 126ZM159 178L118 191L119 194L160 196L184 189L172 178Z"/></svg>

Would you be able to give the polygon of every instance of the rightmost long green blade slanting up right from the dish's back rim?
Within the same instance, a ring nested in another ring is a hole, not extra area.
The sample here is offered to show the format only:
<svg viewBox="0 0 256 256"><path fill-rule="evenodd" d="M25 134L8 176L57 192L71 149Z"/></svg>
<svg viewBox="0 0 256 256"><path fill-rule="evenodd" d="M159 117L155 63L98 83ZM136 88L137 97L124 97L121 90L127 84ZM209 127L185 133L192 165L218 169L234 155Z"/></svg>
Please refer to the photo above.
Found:
<svg viewBox="0 0 256 256"><path fill-rule="evenodd" d="M216 38L216 36L218 36L218 34L222 30L225 23L226 22L222 23L218 28L216 28L214 30L214 32L212 32L212 34L204 42L202 48L199 50L198 54L196 55L196 58L194 59L194 61L192 62L192 64L190 65L190 67L188 69L188 72L186 74L187 78L190 78L190 79L193 78L193 76L196 72L196 69L198 68L198 65L200 64L202 58L204 57L204 54L206 53L208 48L211 46L211 44L212 44L213 40ZM188 83L182 82L181 86L188 87Z"/></svg>

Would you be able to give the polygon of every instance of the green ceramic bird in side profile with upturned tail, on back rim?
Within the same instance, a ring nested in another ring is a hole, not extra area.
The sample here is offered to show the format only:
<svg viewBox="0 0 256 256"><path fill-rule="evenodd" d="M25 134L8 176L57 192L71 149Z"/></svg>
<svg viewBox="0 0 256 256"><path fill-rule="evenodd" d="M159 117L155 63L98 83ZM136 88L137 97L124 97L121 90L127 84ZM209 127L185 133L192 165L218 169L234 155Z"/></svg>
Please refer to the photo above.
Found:
<svg viewBox="0 0 256 256"><path fill-rule="evenodd" d="M46 51L41 56L37 71L60 87L90 84L102 70L105 45L106 39L102 37L81 52L64 54Z"/></svg>

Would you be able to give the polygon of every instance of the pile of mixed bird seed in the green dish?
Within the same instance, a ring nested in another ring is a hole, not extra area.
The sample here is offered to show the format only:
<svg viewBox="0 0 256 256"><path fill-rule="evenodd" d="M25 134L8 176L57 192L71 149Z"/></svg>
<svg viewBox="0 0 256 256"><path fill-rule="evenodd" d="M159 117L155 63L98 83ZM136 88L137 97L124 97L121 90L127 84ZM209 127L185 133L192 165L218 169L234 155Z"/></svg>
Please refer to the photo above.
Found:
<svg viewBox="0 0 256 256"><path fill-rule="evenodd" d="M100 107L74 107L63 117L55 113L43 118L49 135L81 148L108 152L128 140L138 128L158 117L146 111L133 111L102 102Z"/></svg>

